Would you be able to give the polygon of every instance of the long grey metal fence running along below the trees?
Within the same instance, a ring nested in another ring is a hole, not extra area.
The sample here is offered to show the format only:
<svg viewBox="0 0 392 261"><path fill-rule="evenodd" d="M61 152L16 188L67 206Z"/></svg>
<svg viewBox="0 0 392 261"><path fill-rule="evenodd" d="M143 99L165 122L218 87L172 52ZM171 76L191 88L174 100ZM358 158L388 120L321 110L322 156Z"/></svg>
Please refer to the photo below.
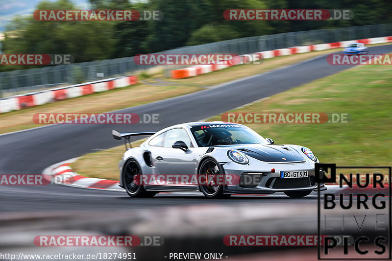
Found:
<svg viewBox="0 0 392 261"><path fill-rule="evenodd" d="M281 33L180 47L160 53L235 53L245 54L279 48L333 43L392 35L392 24L375 24L335 29ZM29 90L59 83L76 84L121 75L132 75L155 65L137 65L133 57L84 62L45 68L0 72L0 91L24 87ZM167 67L167 70L185 66Z"/></svg>

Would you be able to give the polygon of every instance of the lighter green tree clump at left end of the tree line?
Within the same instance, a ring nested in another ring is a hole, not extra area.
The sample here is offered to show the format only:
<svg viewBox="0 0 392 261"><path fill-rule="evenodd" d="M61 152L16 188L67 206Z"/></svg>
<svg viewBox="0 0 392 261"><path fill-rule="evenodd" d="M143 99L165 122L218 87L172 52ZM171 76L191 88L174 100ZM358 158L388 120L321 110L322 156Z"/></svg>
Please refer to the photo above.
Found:
<svg viewBox="0 0 392 261"><path fill-rule="evenodd" d="M74 6L70 0L44 1L37 9L74 9ZM7 25L1 50L3 53L72 54L75 62L110 59L115 45L113 26L110 21L36 21L32 16L17 17ZM15 66L2 70L10 68Z"/></svg>

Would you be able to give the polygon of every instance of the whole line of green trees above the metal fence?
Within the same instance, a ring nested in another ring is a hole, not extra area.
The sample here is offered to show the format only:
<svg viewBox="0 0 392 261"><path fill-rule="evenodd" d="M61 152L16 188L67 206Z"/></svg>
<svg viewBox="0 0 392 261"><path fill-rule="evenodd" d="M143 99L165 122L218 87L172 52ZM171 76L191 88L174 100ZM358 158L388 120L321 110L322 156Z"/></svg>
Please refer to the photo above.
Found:
<svg viewBox="0 0 392 261"><path fill-rule="evenodd" d="M36 21L6 26L2 53L68 53L75 62L130 57L182 46L293 31L391 23L391 0L90 0L91 9L161 10L162 21ZM71 0L42 1L36 9L77 9ZM228 21L226 9L351 9L352 20ZM0 66L0 71L31 67Z"/></svg>

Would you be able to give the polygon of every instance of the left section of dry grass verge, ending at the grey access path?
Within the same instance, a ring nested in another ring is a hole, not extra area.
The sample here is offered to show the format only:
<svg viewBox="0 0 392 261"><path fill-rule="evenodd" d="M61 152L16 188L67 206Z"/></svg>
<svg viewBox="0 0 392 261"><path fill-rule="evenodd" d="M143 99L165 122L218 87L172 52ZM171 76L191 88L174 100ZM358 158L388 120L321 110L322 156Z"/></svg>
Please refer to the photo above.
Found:
<svg viewBox="0 0 392 261"><path fill-rule="evenodd" d="M33 122L36 113L102 113L185 95L201 90L189 86L152 86L137 84L107 92L30 107L0 114L0 133L42 126Z"/></svg>

